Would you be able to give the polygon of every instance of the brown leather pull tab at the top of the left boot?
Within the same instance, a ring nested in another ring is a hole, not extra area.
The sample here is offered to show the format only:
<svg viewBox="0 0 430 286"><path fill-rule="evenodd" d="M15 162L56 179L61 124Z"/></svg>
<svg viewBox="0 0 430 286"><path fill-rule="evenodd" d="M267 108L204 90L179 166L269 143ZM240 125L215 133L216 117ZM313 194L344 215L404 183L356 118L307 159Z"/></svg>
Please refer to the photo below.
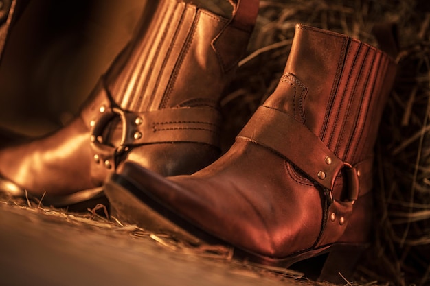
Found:
<svg viewBox="0 0 430 286"><path fill-rule="evenodd" d="M229 0L233 6L231 19L212 40L214 49L224 72L237 66L244 55L249 36L256 24L259 0Z"/></svg>

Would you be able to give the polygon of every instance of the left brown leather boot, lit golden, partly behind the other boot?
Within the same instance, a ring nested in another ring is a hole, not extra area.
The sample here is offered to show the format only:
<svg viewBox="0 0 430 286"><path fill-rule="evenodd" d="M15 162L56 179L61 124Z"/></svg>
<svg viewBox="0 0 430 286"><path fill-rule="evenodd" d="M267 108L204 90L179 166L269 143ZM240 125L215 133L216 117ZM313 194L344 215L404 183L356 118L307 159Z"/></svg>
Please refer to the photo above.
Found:
<svg viewBox="0 0 430 286"><path fill-rule="evenodd" d="M216 160L218 102L258 13L257 0L231 5L231 19L177 0L146 12L150 23L76 119L43 139L1 150L1 189L67 206L100 195L123 160L161 176L192 174Z"/></svg>

